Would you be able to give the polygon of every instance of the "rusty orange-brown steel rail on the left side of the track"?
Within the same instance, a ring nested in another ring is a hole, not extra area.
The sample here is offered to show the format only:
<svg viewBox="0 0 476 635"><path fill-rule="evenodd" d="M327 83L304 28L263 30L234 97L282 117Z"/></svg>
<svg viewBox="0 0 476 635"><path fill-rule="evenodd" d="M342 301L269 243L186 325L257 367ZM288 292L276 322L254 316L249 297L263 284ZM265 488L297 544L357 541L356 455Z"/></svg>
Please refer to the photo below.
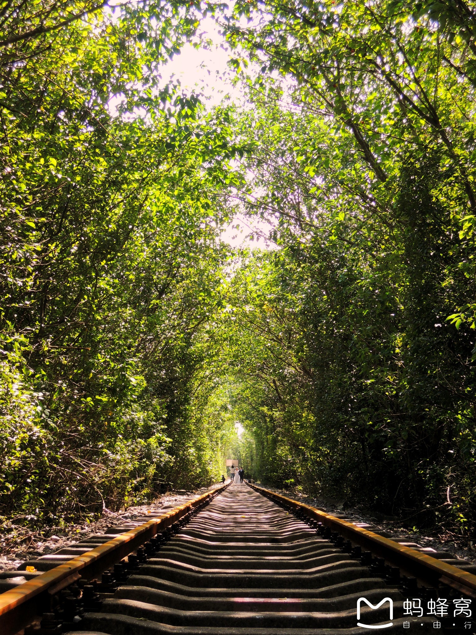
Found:
<svg viewBox="0 0 476 635"><path fill-rule="evenodd" d="M185 516L197 505L214 498L225 490L230 483L220 485L215 490L178 505L167 514L151 518L147 523L119 534L108 542L95 547L81 556L56 566L50 571L38 575L33 580L18 585L14 589L0 594L0 633L15 635L25 626L48 610L53 596L79 578L93 580L110 566L121 561L137 547L155 536L157 531L167 528ZM21 572L18 572L21 575Z"/></svg>

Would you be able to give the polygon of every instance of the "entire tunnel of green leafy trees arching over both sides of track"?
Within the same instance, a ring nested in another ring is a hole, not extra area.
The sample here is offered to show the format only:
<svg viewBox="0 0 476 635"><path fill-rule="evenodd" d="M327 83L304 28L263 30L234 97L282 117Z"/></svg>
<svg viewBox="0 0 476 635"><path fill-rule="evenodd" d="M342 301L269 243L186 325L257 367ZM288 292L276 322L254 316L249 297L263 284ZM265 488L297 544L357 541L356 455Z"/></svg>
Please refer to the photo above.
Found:
<svg viewBox="0 0 476 635"><path fill-rule="evenodd" d="M215 10L241 109L161 82ZM0 513L69 521L238 452L472 531L473 5L0 13ZM236 208L273 250L220 243Z"/></svg>

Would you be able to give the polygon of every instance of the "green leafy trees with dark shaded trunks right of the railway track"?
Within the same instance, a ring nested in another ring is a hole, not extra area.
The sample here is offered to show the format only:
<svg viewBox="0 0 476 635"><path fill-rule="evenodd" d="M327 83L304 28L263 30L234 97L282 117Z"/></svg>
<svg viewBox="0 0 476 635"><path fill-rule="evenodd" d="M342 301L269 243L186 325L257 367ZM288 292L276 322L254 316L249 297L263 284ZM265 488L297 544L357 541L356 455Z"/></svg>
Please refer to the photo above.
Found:
<svg viewBox="0 0 476 635"><path fill-rule="evenodd" d="M238 196L280 246L244 265L230 300L255 472L468 531L473 6L234 10L227 37L254 106L242 134L258 140ZM246 77L246 58L261 72Z"/></svg>

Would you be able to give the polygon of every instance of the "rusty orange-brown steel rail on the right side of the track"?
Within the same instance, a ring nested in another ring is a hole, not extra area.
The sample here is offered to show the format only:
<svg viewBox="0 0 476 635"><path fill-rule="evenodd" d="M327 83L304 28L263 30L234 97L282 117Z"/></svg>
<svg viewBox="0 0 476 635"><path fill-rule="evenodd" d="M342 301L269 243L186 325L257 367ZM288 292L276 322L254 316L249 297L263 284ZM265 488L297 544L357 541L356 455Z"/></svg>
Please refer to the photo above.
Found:
<svg viewBox="0 0 476 635"><path fill-rule="evenodd" d="M357 527L348 521L332 516L332 514L326 514L320 509L310 507L310 505L305 505L274 491L265 490L265 488L249 482L246 482L246 485L270 500L281 502L293 509L303 510L309 518L319 521L333 531L338 531L341 536L355 545L365 547L380 558L385 558L388 563L398 566L406 575L416 577L421 582L426 582L434 587L445 584L456 591L465 593L470 598L476 598L476 575L473 573L465 572L456 566L432 558L432 556L421 553L412 547L404 547L390 538L384 538L378 533L374 533L374 531Z"/></svg>

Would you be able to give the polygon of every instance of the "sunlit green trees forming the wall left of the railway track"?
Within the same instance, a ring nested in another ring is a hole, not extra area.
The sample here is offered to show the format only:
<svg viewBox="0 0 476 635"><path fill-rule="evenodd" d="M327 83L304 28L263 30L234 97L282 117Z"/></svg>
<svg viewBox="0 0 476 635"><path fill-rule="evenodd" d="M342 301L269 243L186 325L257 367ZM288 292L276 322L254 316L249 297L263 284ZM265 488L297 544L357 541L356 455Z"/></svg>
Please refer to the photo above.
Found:
<svg viewBox="0 0 476 635"><path fill-rule="evenodd" d="M160 84L193 8L91 8L8 3L0 26L0 514L53 525L209 483L225 455L192 397L228 113Z"/></svg>

